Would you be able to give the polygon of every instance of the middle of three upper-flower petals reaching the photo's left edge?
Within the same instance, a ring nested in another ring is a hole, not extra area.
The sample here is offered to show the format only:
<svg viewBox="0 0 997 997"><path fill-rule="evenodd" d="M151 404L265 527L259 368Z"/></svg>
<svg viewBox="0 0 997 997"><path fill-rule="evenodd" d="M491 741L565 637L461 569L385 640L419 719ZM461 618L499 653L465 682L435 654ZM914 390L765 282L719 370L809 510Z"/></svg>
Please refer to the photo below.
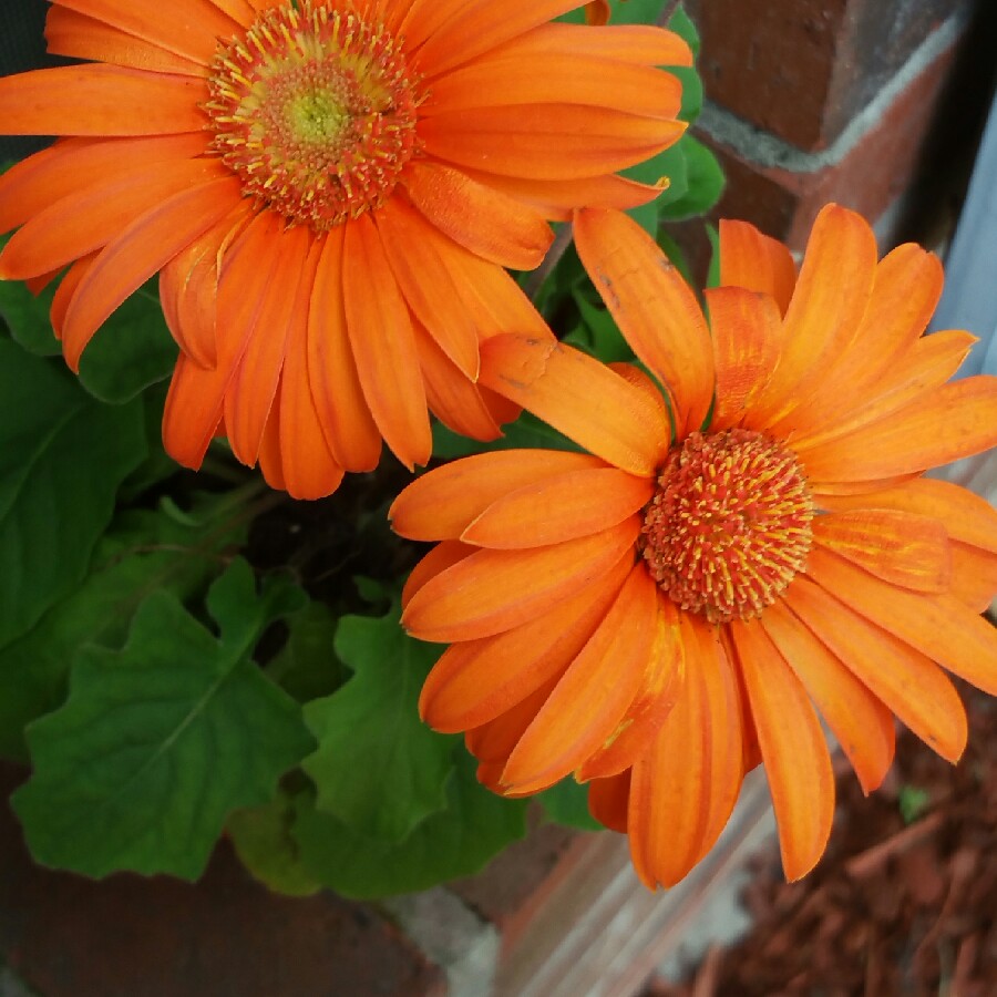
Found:
<svg viewBox="0 0 997 997"><path fill-rule="evenodd" d="M191 160L206 146L205 136L197 134L104 142L60 138L0 176L0 232L23 225L56 201L92 184L141 177L153 163Z"/></svg>

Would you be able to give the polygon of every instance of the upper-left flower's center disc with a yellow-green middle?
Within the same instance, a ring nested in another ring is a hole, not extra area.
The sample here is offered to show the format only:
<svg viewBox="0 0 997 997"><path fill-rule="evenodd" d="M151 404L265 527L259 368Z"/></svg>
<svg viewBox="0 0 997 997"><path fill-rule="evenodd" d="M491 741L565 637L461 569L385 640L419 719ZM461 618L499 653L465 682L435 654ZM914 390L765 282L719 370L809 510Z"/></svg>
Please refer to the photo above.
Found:
<svg viewBox="0 0 997 997"><path fill-rule="evenodd" d="M337 7L261 13L215 56L205 105L244 192L316 232L382 204L417 147L419 94L395 39Z"/></svg>

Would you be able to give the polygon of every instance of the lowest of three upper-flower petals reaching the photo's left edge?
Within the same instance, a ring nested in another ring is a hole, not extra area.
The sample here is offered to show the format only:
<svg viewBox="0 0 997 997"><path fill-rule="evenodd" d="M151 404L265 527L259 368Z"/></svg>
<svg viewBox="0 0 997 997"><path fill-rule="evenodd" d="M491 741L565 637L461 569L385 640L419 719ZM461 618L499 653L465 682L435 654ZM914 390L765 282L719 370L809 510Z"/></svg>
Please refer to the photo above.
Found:
<svg viewBox="0 0 997 997"><path fill-rule="evenodd" d="M165 199L229 176L217 160L179 160L150 163L126 178L84 187L39 212L14 233L0 254L0 278L23 280L65 266L107 245Z"/></svg>

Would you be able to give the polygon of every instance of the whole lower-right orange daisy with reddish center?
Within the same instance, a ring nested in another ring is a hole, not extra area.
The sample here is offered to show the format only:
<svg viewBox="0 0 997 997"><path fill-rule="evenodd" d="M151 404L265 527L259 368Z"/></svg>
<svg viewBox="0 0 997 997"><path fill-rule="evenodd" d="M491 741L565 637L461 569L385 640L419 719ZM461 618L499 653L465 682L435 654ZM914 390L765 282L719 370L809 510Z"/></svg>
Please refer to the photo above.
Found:
<svg viewBox="0 0 997 997"><path fill-rule="evenodd" d="M893 715L962 753L943 668L997 692L978 615L997 513L922 476L994 445L997 379L946 383L973 337L922 338L937 259L905 245L877 263L840 207L799 279L783 246L722 224L710 328L626 216L579 212L575 238L658 386L543 337L485 345L480 383L588 453L467 458L394 503L400 534L441 541L403 598L410 633L452 645L422 713L467 732L497 791L593 780L593 813L629 832L649 886L707 852L762 761L795 880L834 810L818 711L868 792Z"/></svg>

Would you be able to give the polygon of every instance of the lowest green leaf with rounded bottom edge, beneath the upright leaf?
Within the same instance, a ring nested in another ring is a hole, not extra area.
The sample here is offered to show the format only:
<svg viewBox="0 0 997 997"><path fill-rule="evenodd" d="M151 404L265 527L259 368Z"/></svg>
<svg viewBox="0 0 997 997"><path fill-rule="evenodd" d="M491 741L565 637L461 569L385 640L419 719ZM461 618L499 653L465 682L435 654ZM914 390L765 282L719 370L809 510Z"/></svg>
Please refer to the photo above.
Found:
<svg viewBox="0 0 997 997"><path fill-rule="evenodd" d="M446 809L397 845L357 834L299 796L292 834L306 868L323 886L362 900L428 890L481 871L526 834L526 801L490 792L474 778L474 767L459 749Z"/></svg>

